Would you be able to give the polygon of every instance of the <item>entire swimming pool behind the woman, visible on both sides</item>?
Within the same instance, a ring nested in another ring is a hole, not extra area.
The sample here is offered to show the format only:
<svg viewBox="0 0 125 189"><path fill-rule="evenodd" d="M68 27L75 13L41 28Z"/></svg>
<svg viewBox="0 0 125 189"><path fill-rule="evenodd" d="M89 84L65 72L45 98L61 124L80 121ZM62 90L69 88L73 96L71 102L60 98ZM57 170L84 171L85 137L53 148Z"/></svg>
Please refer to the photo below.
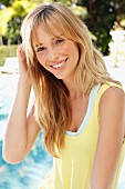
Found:
<svg viewBox="0 0 125 189"><path fill-rule="evenodd" d="M116 74L116 72L115 72ZM8 113L17 90L18 74L0 74L0 189L37 189L42 178L52 167L52 158L42 148L42 133L31 152L18 165L9 165L2 159L2 138ZM118 189L125 189L125 161Z"/></svg>

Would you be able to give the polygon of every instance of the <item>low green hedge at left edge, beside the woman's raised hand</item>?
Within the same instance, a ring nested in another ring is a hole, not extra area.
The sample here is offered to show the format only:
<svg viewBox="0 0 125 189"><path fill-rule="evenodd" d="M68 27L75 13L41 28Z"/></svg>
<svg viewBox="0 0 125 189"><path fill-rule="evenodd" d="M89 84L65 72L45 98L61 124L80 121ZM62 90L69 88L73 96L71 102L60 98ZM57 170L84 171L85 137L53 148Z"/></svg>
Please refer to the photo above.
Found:
<svg viewBox="0 0 125 189"><path fill-rule="evenodd" d="M17 44L11 46L0 46L0 67L4 66L4 61L7 57L15 57L17 56Z"/></svg>

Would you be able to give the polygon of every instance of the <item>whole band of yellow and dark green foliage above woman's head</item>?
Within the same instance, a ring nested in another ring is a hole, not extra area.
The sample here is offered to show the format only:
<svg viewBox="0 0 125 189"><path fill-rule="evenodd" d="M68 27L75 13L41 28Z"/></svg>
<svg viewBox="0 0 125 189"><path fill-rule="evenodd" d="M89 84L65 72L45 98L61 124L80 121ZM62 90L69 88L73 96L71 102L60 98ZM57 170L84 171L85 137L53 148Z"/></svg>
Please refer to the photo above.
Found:
<svg viewBox="0 0 125 189"><path fill-rule="evenodd" d="M39 3L61 1L87 24L96 47L108 54L110 31L117 21L125 28L125 0L2 0L0 36L8 44L20 43L20 27L25 14ZM11 4L11 6L10 6Z"/></svg>

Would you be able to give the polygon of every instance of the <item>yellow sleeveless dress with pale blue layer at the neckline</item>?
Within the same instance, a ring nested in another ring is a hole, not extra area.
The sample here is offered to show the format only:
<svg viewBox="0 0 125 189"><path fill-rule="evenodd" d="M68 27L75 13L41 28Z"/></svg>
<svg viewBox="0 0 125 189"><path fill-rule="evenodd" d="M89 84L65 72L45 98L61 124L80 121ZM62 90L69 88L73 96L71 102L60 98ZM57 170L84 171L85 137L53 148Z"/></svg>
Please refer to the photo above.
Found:
<svg viewBox="0 0 125 189"><path fill-rule="evenodd" d="M90 94L86 116L77 135L65 135L64 147L60 159L53 158L53 170L44 179L40 189L90 189L91 172L97 145L100 120L98 103L102 94L116 83L95 86ZM82 129L81 129L82 128ZM125 155L123 142L121 157L112 189L117 189L118 176Z"/></svg>

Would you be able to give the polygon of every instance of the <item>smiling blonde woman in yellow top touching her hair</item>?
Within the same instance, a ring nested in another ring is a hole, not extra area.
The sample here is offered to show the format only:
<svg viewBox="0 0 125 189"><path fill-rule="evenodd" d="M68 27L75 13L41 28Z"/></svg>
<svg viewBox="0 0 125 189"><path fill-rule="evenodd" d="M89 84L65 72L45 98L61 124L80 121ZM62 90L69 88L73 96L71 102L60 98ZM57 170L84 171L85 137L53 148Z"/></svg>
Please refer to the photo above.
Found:
<svg viewBox="0 0 125 189"><path fill-rule="evenodd" d="M125 97L86 26L53 2L32 10L21 33L4 160L20 162L42 130L53 169L41 189L116 189L125 153ZM27 117L31 88L35 100Z"/></svg>

